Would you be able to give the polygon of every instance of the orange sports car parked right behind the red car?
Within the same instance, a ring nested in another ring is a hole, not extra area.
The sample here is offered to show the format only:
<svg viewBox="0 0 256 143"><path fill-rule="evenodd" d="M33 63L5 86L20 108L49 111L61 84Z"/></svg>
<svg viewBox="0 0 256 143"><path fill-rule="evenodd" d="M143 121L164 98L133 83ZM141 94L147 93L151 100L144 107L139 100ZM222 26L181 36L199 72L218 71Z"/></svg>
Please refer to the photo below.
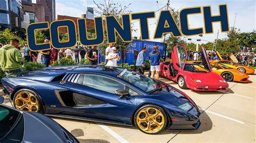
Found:
<svg viewBox="0 0 256 143"><path fill-rule="evenodd" d="M202 61L187 61L190 63L196 63L198 65L202 65ZM223 63L213 63L211 62L212 71L217 73L221 77L224 78L227 82L248 82L249 77L247 74L243 73L238 69L233 69L228 66L225 66Z"/></svg>

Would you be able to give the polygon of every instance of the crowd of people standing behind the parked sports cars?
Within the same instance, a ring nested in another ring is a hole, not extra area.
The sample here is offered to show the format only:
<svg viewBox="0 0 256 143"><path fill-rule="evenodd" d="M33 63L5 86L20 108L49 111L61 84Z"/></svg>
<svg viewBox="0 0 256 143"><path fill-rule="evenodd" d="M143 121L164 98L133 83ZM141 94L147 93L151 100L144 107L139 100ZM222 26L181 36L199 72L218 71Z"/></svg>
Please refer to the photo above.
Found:
<svg viewBox="0 0 256 143"><path fill-rule="evenodd" d="M50 42L49 40L44 40L45 43ZM74 54L75 61L79 62L79 55L81 59L88 59L90 61L90 65L97 65L98 64L98 50L96 46L92 46L91 48L83 47L80 45L76 45L76 47L73 48L66 48L66 49L55 49L50 48L46 49L44 51L40 52L34 52L30 51L27 45L20 46L19 41L17 39L11 39L9 45L0 45L0 63L2 70L4 73L8 76L11 74L17 74L21 73L21 68L23 61L26 62L38 62L38 55L39 53L41 56L41 62L46 67L52 65L55 63L58 59L67 58L72 59L72 56ZM24 52L24 57L22 57L21 52L19 49L22 49ZM138 72L140 74L144 74L144 69L146 65L146 53L147 49L146 47L142 48L142 51L138 53L138 57L136 59L136 66L138 67ZM202 57L201 52L192 52L187 51L188 59L187 60L194 60L198 61L201 60ZM232 53L235 55L235 53ZM117 67L117 62L120 60L120 57L117 53L117 48L114 47L114 44L109 44L108 47L105 49L105 61L106 66L111 67ZM170 54L171 55L171 54ZM208 52L207 53L209 60L219 60L219 56L216 54L215 51ZM231 60L230 54L220 54L220 56L223 58L223 60ZM164 61L166 60L165 53L163 56L160 56L160 52L158 51L158 46L154 46L152 52L149 53L149 59L150 59L150 73L149 76L151 78L154 78L156 75L156 78L159 79L159 72L160 72L160 58ZM237 58L239 59L239 62L244 65L250 65L254 54L238 54Z"/></svg>

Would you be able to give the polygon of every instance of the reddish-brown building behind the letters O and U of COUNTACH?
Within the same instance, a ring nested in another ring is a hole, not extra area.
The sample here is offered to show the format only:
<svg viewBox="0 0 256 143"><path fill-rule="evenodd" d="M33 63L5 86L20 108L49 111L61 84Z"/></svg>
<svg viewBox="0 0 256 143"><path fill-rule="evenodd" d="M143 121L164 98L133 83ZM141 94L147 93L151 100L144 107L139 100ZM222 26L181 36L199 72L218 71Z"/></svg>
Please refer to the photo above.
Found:
<svg viewBox="0 0 256 143"><path fill-rule="evenodd" d="M70 17L70 16L62 16L62 15L58 15L58 20L63 20L63 19L70 19L73 20L73 22L75 22L76 24L76 30L78 32L78 25L77 25L77 19L79 17ZM94 20L93 19L86 19L86 26L87 29L93 28L94 27ZM59 32L65 34L67 33L67 29L64 27L59 28Z"/></svg>

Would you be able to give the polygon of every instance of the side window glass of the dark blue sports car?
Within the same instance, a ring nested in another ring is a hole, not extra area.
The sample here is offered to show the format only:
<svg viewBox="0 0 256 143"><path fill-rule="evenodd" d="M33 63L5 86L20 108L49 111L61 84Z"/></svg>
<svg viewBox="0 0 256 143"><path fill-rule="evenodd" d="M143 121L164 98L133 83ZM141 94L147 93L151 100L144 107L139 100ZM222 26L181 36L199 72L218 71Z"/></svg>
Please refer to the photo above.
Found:
<svg viewBox="0 0 256 143"><path fill-rule="evenodd" d="M118 89L126 89L129 91L131 96L136 96L138 93L131 88L127 87L121 82L112 80L110 77L102 75L92 75L92 74L81 74L77 81L78 84L85 85L90 88L95 88L105 92L114 94Z"/></svg>

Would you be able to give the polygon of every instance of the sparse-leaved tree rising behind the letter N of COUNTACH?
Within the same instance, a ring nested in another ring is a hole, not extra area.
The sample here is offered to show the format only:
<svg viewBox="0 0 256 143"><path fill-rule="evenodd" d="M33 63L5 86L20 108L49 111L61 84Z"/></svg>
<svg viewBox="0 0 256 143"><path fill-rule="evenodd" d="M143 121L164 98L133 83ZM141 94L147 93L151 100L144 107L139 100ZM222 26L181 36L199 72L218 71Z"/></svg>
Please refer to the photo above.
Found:
<svg viewBox="0 0 256 143"><path fill-rule="evenodd" d="M99 16L102 16L105 19L106 16L112 15L117 18L119 23L122 22L121 15L132 12L128 10L131 3L125 6L110 0L104 0L104 3L96 3L93 0L93 3L95 3L97 6L97 9L95 9L95 11ZM106 25L105 20L104 20L104 25ZM91 30L91 32L95 33L94 30ZM92 33L91 33L91 36L93 36ZM118 34L116 35L117 35L117 42L115 44L115 47L117 47L120 51L122 51L123 49L126 49L127 46L129 45L129 42L124 42ZM106 37L106 31L105 31L105 37ZM100 45L100 49L105 49L107 46L108 46L108 43L107 43L107 39L105 38L104 44ZM100 54L105 54L105 51L101 50Z"/></svg>

